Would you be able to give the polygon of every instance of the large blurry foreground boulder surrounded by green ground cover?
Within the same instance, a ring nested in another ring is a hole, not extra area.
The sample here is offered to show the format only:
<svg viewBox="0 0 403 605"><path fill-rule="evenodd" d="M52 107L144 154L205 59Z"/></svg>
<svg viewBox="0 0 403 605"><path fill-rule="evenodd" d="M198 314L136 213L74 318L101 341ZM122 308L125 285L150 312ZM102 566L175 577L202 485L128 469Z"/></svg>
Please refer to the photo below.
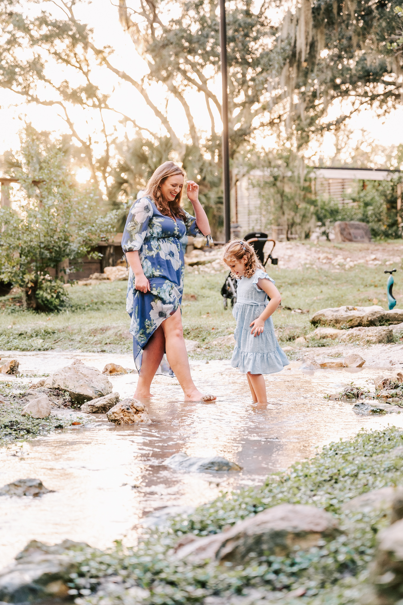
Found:
<svg viewBox="0 0 403 605"><path fill-rule="evenodd" d="M258 512L229 529L206 538L197 538L177 551L177 557L197 563L211 558L244 565L253 557L267 554L283 557L300 546L309 550L323 537L339 534L335 517L329 512L302 504L280 504Z"/></svg>

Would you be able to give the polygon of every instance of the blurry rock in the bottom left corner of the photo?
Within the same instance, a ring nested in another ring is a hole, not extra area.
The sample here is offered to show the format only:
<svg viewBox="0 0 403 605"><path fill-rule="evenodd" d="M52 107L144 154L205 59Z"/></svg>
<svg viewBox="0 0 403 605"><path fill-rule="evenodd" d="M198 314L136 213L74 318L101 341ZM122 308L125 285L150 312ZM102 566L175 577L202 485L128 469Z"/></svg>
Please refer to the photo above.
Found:
<svg viewBox="0 0 403 605"><path fill-rule="evenodd" d="M48 546L32 540L16 556L15 563L0 572L0 600L7 603L31 603L41 599L68 597L66 582L76 571L77 551L87 544L64 540Z"/></svg>

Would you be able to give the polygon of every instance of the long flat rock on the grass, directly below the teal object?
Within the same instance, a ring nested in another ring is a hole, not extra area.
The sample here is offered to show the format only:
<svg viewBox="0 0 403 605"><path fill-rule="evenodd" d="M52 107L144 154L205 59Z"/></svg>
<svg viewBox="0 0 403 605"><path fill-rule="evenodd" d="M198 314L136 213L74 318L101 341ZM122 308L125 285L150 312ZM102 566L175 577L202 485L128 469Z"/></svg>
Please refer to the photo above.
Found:
<svg viewBox="0 0 403 605"><path fill-rule="evenodd" d="M385 311L376 305L371 307L329 307L329 309L317 311L310 320L313 325L331 325L335 328L399 324L402 321L402 309Z"/></svg>

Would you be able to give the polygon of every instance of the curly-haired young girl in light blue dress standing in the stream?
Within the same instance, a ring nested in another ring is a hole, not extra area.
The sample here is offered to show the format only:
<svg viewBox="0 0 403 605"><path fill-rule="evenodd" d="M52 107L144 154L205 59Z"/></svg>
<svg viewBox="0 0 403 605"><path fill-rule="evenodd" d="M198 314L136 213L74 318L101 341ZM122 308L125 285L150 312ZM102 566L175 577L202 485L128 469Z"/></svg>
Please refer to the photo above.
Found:
<svg viewBox="0 0 403 605"><path fill-rule="evenodd" d="M281 302L280 292L246 241L230 241L224 248L223 263L237 278L237 302L232 312L237 320L236 344L231 365L246 374L253 401L266 403L263 374L279 372L289 365L274 335L271 318Z"/></svg>

